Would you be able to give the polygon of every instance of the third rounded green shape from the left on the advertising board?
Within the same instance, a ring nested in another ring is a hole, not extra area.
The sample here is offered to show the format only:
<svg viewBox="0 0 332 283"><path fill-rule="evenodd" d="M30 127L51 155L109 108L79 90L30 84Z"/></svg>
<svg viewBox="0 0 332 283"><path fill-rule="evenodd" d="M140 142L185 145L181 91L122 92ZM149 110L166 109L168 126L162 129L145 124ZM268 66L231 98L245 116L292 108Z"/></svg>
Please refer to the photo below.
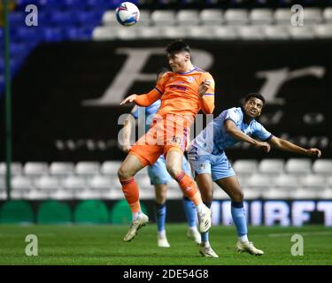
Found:
<svg viewBox="0 0 332 283"><path fill-rule="evenodd" d="M83 201L76 206L73 219L77 224L106 224L106 205L101 201Z"/></svg>

